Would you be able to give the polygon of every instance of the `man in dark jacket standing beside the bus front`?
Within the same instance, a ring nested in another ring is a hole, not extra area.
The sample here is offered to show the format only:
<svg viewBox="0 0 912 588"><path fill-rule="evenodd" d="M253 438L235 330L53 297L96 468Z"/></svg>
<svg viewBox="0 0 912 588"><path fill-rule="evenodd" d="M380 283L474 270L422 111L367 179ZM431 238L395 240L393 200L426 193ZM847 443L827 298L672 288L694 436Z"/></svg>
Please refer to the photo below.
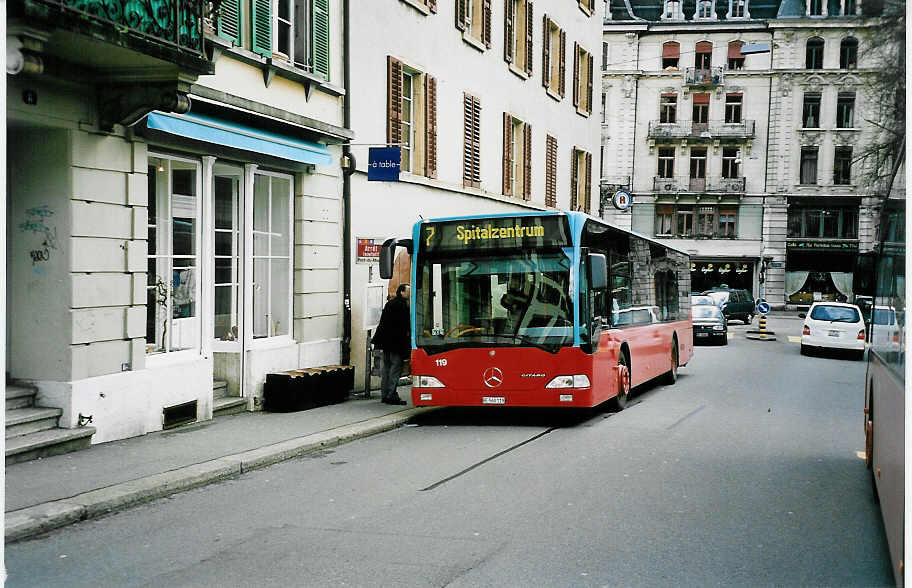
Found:
<svg viewBox="0 0 912 588"><path fill-rule="evenodd" d="M380 399L385 404L406 404L399 398L396 385L402 375L402 363L412 350L408 300L409 285L399 284L396 296L383 307L380 324L371 339L374 347L383 350Z"/></svg>

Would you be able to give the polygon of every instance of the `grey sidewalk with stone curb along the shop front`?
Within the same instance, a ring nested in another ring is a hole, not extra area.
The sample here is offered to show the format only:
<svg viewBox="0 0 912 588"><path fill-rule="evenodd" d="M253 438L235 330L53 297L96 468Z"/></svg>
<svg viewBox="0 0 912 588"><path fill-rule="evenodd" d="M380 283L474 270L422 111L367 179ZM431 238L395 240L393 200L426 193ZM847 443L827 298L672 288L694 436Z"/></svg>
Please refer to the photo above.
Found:
<svg viewBox="0 0 912 588"><path fill-rule="evenodd" d="M410 389L399 388L401 398ZM353 394L291 413L219 417L6 466L6 537L15 541L402 426L434 410Z"/></svg>

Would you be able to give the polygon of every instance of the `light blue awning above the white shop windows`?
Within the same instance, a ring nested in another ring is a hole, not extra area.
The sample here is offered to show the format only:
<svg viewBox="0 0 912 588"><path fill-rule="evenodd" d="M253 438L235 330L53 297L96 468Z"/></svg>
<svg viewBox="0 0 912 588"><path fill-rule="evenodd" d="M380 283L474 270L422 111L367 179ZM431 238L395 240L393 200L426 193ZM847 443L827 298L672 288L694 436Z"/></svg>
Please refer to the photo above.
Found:
<svg viewBox="0 0 912 588"><path fill-rule="evenodd" d="M325 145L309 143L199 114L153 112L147 117L146 126L188 139L244 149L300 163L313 165L332 163L332 156Z"/></svg>

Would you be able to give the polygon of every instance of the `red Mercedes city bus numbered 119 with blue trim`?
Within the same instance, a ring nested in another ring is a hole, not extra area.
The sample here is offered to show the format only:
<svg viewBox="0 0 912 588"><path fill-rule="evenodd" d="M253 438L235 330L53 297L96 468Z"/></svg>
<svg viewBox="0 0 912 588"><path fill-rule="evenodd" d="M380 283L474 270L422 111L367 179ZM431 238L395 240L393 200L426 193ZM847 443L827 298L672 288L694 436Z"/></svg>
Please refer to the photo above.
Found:
<svg viewBox="0 0 912 588"><path fill-rule="evenodd" d="M416 406L592 407L693 356L686 253L591 216L422 220L412 239Z"/></svg>

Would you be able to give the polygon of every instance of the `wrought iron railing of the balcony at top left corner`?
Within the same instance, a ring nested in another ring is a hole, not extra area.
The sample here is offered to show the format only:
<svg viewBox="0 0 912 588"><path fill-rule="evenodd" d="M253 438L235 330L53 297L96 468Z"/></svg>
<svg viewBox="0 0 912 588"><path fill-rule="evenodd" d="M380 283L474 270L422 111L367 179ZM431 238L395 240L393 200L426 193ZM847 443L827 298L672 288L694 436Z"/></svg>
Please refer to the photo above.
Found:
<svg viewBox="0 0 912 588"><path fill-rule="evenodd" d="M205 0L25 0L59 9L85 24L203 56ZM77 22L78 22L77 21ZM66 26L62 23L61 26Z"/></svg>

